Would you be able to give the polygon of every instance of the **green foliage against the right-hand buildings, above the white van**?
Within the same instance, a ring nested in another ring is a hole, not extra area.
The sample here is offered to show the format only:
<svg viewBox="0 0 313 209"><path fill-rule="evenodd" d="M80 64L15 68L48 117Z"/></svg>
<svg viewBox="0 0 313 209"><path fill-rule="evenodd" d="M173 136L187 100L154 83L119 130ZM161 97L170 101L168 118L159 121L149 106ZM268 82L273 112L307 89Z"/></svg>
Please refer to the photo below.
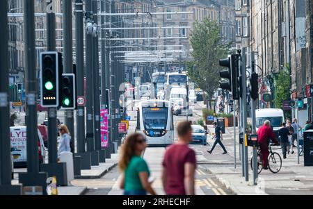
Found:
<svg viewBox="0 0 313 209"><path fill-rule="evenodd" d="M282 103L289 100L290 97L290 75L289 67L285 67L275 78L275 108L282 108Z"/></svg>

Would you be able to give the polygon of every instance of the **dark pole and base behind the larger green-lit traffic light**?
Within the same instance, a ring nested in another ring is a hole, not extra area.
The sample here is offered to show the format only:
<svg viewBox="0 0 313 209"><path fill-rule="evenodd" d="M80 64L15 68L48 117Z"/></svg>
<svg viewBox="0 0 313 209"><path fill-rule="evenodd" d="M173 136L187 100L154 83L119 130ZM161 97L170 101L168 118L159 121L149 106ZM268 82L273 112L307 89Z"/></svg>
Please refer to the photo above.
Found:
<svg viewBox="0 0 313 209"><path fill-rule="evenodd" d="M28 1L28 0L24 0ZM47 2L47 6L51 1ZM47 51L56 51L56 15L54 12L47 10ZM61 56L59 56L59 59ZM60 61L60 60L59 60ZM60 66L61 67L61 66ZM61 76L61 75L58 75ZM58 80L58 78L57 78ZM58 82L58 81L57 81ZM61 83L58 83L61 85ZM59 86L60 87L60 86ZM61 95L59 95L60 97ZM49 164L42 164L40 169L48 173L49 177L56 176L58 185L67 185L66 164L58 163L57 135L58 127L56 126L57 111L56 108L48 109L48 149Z"/></svg>

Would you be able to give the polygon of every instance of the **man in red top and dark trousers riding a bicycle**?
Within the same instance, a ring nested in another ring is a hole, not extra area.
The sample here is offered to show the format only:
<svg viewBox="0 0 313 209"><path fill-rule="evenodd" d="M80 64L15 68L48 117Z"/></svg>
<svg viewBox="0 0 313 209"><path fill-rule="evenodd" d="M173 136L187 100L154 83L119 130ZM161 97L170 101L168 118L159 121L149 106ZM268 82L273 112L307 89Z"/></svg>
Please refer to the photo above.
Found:
<svg viewBox="0 0 313 209"><path fill-rule="evenodd" d="M273 140L275 144L279 144L278 140L276 139L276 135L274 131L271 128L271 122L266 120L264 122L264 125L259 127L257 130L259 148L261 150L262 155L262 166L263 169L268 169L268 146L270 143L270 140Z"/></svg>

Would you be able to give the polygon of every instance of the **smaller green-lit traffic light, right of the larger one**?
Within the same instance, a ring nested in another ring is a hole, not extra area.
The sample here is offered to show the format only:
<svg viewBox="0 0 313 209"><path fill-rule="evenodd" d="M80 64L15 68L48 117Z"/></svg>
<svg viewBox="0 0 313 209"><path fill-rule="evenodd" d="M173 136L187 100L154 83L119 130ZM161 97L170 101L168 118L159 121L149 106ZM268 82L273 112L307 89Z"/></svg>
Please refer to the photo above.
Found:
<svg viewBox="0 0 313 209"><path fill-rule="evenodd" d="M61 109L75 110L76 108L76 83L74 74L62 75Z"/></svg>

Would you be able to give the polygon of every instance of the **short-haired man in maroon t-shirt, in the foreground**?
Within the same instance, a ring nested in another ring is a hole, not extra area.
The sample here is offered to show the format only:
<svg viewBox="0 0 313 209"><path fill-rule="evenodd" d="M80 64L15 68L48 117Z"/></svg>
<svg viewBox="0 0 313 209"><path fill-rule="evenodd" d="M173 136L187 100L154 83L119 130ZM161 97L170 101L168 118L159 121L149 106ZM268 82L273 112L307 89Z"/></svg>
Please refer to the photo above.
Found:
<svg viewBox="0 0 313 209"><path fill-rule="evenodd" d="M195 151L188 147L192 141L190 122L179 122L178 141L166 150L163 160L162 183L168 195L195 194Z"/></svg>

